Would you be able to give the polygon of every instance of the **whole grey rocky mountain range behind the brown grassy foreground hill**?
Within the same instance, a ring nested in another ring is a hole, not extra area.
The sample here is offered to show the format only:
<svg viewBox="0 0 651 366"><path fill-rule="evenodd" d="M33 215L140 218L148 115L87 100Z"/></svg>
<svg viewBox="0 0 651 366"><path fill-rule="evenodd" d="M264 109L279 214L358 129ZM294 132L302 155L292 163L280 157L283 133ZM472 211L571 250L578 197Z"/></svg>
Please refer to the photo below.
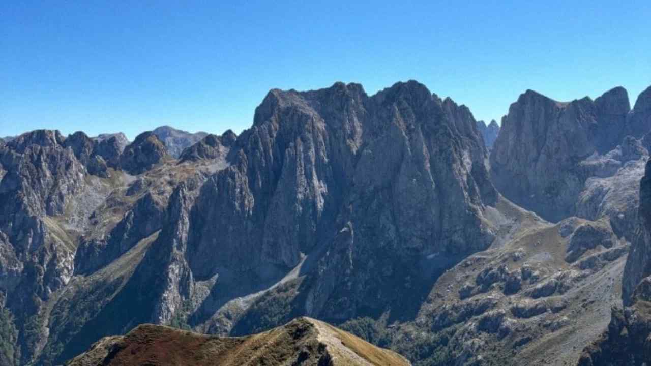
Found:
<svg viewBox="0 0 651 366"><path fill-rule="evenodd" d="M650 94L527 91L482 128L415 81L335 83L240 135L0 142L0 364L301 316L415 365L576 363L621 302Z"/></svg>

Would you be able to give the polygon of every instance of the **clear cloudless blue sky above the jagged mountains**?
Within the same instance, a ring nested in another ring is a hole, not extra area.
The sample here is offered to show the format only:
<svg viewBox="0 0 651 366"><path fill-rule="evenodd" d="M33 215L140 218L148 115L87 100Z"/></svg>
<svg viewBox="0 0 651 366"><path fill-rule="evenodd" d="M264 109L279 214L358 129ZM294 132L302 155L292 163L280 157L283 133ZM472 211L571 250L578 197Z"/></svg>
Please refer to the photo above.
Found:
<svg viewBox="0 0 651 366"><path fill-rule="evenodd" d="M0 136L240 132L271 88L417 79L498 119L651 85L651 1L0 1Z"/></svg>

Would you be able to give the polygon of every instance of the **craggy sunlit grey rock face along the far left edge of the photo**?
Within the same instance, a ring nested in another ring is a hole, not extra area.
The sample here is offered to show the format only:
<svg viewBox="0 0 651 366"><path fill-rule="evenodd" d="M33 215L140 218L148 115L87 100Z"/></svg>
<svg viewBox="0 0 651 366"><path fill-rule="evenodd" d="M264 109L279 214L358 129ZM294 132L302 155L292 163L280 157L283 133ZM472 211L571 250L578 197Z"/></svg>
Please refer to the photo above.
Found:
<svg viewBox="0 0 651 366"><path fill-rule="evenodd" d="M57 220L46 217L66 214L68 201L85 188L85 169L63 142L59 132L38 130L2 152L7 173L0 181L0 293L4 307L25 315L18 326L29 328L14 344L21 364L44 345L42 303L72 276L74 249Z"/></svg>

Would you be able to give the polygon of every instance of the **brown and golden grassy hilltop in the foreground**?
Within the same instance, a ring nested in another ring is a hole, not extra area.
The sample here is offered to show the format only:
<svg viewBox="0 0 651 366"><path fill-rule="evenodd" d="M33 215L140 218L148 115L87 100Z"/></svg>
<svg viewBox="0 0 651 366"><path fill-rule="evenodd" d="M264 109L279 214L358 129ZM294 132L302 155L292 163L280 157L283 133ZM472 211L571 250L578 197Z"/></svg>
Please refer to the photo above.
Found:
<svg viewBox="0 0 651 366"><path fill-rule="evenodd" d="M107 337L68 366L118 365L408 366L402 356L311 318L227 338L145 324Z"/></svg>

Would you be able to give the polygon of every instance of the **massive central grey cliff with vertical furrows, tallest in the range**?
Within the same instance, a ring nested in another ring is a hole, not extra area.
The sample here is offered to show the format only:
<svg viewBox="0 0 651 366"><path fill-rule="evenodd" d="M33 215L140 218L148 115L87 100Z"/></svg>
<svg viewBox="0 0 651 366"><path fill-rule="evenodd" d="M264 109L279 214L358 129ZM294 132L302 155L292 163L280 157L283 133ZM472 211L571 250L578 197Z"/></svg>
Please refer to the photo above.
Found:
<svg viewBox="0 0 651 366"><path fill-rule="evenodd" d="M419 264L427 255L473 253L494 237L484 208L497 193L475 120L415 81L371 97L343 83L273 90L229 157L196 199L179 191L170 201L178 219L159 242L176 249L165 255L156 322L199 296L191 279L238 274L245 288L305 255L312 277L296 311L345 318L369 303L377 311L429 276ZM195 315L217 306L219 286Z"/></svg>

